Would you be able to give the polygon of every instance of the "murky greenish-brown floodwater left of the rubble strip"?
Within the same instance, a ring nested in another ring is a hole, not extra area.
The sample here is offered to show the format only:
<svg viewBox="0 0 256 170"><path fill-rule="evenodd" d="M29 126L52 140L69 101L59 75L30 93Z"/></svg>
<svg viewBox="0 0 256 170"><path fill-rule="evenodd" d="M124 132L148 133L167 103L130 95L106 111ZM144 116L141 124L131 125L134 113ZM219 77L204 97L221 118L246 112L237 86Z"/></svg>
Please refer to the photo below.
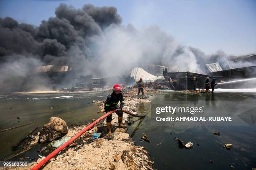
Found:
<svg viewBox="0 0 256 170"><path fill-rule="evenodd" d="M13 130L0 133L0 160L20 152L11 147L18 143L30 130L38 130L50 117L60 117L67 125L85 123L100 117L93 100L105 100L109 92L92 92L83 94L38 94L38 95L0 95L0 130L35 122ZM18 122L17 117L20 118ZM40 148L40 147L39 147ZM36 157L34 151L25 156ZM24 156L24 154L23 154Z"/></svg>

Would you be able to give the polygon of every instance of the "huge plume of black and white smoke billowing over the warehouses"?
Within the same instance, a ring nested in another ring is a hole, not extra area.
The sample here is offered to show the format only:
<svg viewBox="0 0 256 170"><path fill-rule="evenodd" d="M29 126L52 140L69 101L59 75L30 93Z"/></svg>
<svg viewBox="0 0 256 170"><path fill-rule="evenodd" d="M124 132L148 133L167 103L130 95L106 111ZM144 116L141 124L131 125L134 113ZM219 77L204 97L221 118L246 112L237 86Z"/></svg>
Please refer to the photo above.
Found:
<svg viewBox="0 0 256 170"><path fill-rule="evenodd" d="M142 30L122 25L115 7L84 5L76 9L61 3L55 14L38 27L0 18L1 88L49 87L47 76L34 73L42 65L69 65L74 77L110 77L127 75L132 68L147 64L205 73L205 63L230 58L223 51L206 55L181 45L156 25Z"/></svg>

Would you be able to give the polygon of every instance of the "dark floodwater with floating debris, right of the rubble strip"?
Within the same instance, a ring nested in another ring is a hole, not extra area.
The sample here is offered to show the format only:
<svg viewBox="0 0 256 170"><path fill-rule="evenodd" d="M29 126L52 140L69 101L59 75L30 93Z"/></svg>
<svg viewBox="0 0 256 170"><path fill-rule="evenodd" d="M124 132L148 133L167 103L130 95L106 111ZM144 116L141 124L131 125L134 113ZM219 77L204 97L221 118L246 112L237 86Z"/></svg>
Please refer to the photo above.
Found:
<svg viewBox="0 0 256 170"><path fill-rule="evenodd" d="M256 167L256 93L216 93L184 96L179 92L165 92L150 98L153 103L190 102L194 106L204 105L204 115L232 116L232 123L218 122L169 122L165 125L153 125L153 116L135 122L129 128L136 145L144 146L159 170L248 170ZM153 101L154 100L154 101ZM147 112L150 104L139 107ZM153 114L153 113L152 113ZM213 135L219 131L220 136ZM146 133L151 143L141 141ZM190 150L180 148L174 138L185 143L192 142ZM233 144L233 148L223 148L224 143ZM197 145L198 144L198 145ZM210 163L210 160L212 163Z"/></svg>

